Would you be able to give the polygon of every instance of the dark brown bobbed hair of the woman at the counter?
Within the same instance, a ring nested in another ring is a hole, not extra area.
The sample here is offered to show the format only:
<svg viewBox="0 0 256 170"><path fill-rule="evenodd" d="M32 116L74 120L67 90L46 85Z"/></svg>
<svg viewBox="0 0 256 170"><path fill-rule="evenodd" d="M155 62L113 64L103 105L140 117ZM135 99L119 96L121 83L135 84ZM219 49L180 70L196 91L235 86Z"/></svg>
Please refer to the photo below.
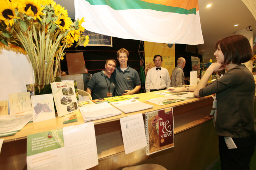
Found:
<svg viewBox="0 0 256 170"><path fill-rule="evenodd" d="M252 58L252 48L248 39L243 35L232 35L220 39L215 44L216 49L219 44L224 55L224 65L241 64Z"/></svg>

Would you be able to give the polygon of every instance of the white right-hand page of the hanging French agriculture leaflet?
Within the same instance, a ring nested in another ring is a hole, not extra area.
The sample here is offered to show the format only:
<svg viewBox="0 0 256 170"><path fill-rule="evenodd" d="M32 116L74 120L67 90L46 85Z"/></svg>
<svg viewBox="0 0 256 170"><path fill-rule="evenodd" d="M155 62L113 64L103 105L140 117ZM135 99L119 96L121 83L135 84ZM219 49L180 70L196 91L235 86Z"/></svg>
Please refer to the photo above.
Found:
<svg viewBox="0 0 256 170"><path fill-rule="evenodd" d="M67 169L84 170L98 165L93 122L63 128Z"/></svg>

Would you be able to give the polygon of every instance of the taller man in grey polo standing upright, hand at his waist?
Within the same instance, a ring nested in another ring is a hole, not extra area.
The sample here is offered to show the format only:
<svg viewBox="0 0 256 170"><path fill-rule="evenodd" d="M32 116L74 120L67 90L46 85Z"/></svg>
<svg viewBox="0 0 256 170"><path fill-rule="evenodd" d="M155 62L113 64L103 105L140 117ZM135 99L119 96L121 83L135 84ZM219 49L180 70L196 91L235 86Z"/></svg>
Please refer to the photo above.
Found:
<svg viewBox="0 0 256 170"><path fill-rule="evenodd" d="M121 48L116 55L120 67L115 68L113 73L116 82L115 96L134 94L141 88L141 81L138 72L127 65L129 52Z"/></svg>

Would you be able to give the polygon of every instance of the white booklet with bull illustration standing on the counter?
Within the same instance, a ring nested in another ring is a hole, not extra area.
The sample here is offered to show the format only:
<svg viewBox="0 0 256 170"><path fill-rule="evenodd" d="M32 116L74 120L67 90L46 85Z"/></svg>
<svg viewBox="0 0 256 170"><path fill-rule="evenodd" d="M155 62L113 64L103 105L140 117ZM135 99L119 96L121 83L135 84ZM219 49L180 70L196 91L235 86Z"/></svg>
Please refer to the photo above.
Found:
<svg viewBox="0 0 256 170"><path fill-rule="evenodd" d="M55 119L52 93L31 96L33 122Z"/></svg>

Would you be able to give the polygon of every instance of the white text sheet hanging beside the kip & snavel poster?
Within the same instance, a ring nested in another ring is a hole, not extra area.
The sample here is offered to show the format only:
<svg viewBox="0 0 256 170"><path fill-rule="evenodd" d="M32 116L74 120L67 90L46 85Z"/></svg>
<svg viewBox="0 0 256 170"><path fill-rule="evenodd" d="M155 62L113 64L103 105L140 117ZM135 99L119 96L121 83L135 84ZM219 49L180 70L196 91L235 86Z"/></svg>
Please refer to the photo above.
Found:
<svg viewBox="0 0 256 170"><path fill-rule="evenodd" d="M125 154L147 146L142 113L120 118Z"/></svg>

